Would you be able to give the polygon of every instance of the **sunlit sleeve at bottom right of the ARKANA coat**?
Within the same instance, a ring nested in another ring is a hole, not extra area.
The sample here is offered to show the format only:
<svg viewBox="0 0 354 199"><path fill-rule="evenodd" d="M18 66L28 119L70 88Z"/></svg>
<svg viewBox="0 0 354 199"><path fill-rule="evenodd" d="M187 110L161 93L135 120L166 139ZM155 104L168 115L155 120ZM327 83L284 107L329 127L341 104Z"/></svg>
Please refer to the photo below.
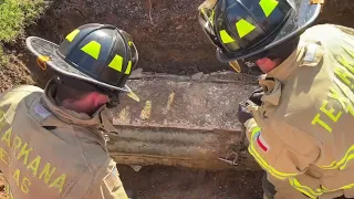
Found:
<svg viewBox="0 0 354 199"><path fill-rule="evenodd" d="M116 163L111 160L108 166L103 169L103 175L96 178L90 196L90 199L128 199L123 184L119 179L119 172L116 168Z"/></svg>

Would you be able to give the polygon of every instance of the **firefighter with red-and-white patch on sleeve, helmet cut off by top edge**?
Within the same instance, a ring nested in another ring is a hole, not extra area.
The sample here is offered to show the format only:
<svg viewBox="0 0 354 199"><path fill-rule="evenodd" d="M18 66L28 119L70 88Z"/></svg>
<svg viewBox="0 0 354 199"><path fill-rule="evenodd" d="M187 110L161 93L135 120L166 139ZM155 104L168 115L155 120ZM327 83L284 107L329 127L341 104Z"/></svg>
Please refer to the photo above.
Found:
<svg viewBox="0 0 354 199"><path fill-rule="evenodd" d="M256 64L261 102L239 106L264 198L354 198L354 30L316 24L323 0L199 7L223 63ZM238 69L240 70L240 69ZM253 97L254 98L254 97Z"/></svg>

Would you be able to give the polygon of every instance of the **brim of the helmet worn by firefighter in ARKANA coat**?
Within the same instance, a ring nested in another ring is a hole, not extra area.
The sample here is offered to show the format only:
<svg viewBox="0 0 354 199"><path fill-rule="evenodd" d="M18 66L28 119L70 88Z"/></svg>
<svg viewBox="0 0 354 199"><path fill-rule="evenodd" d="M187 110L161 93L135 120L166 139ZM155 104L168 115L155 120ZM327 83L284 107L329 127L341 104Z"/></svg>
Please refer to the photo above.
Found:
<svg viewBox="0 0 354 199"><path fill-rule="evenodd" d="M61 55L59 55L59 45L55 43L52 43L48 40L44 40L42 38L38 36L29 36L25 40L27 48L37 56L49 56L50 60L45 62L46 65L49 65L52 70L55 72L67 75L71 77L80 78L90 83L94 83L96 85L111 88L114 91L122 91L131 93L132 90L125 85L124 87L117 87L113 86L100 81L96 81L95 78L90 77L88 75L82 73L81 71L76 70L74 66L65 62L65 60L62 59Z"/></svg>

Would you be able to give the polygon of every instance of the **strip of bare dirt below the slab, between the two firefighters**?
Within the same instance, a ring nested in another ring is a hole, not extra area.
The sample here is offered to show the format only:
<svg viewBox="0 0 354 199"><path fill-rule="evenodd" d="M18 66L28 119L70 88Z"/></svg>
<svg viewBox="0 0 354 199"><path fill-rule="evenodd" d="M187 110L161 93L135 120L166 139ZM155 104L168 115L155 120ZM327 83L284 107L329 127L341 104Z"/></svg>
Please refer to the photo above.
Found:
<svg viewBox="0 0 354 199"><path fill-rule="evenodd" d="M129 166L118 170L126 190L149 199L250 199L262 198L263 171L205 171L163 166L143 167L135 172Z"/></svg>

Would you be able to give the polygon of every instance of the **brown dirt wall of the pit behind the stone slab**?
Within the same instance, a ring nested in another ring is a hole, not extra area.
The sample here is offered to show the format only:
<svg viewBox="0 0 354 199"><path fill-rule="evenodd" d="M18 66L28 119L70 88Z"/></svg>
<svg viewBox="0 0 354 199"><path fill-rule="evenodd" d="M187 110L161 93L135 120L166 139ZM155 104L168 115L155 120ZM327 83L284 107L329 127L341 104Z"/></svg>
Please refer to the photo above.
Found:
<svg viewBox="0 0 354 199"><path fill-rule="evenodd" d="M228 70L217 61L215 48L197 20L202 0L56 0L28 35L54 42L76 27L111 23L129 32L139 51L137 67L144 71L194 74ZM354 27L353 0L326 0L319 23Z"/></svg>

